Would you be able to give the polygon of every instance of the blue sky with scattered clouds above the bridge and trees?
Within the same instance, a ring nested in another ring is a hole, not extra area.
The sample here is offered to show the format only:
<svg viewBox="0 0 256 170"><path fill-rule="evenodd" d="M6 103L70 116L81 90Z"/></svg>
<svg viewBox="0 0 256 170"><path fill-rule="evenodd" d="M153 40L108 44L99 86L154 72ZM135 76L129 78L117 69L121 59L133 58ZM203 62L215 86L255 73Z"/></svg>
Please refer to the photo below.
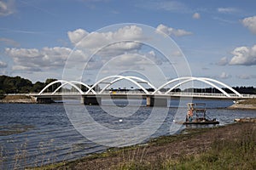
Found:
<svg viewBox="0 0 256 170"><path fill-rule="evenodd" d="M73 57L77 64L88 61L78 47L83 37L106 26L137 23L152 26L172 37L188 60L192 76L211 77L230 86L255 87L255 8L253 0L1 0L0 74L26 77L32 82L44 82L48 77L61 79L68 57ZM124 31L124 27L119 29ZM137 29L139 26L131 25L124 32ZM118 30L103 31L118 34ZM96 48L101 38L106 40L104 38L109 36L106 32L93 37L91 42L81 42L81 46ZM122 36L131 36L125 33ZM165 59L153 48L125 43L122 48L116 45L111 49L115 51L111 52L112 56L120 56L115 63L119 68L114 74L118 74L121 67L125 71L147 71L147 57L166 69ZM137 59L136 54L144 58ZM112 59L109 56L97 54L90 60L88 75L79 77L84 82L94 82L96 75L93 73L103 70L102 65ZM166 77L177 77L167 70ZM106 76L113 74L105 73Z"/></svg>

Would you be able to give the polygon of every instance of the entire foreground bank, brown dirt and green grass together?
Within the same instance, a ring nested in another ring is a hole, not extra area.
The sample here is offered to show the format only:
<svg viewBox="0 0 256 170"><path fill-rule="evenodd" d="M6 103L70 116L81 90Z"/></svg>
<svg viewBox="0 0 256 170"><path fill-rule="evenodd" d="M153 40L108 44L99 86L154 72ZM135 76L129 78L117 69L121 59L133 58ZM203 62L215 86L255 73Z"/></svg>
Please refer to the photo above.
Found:
<svg viewBox="0 0 256 170"><path fill-rule="evenodd" d="M256 123L186 130L38 169L256 169Z"/></svg>

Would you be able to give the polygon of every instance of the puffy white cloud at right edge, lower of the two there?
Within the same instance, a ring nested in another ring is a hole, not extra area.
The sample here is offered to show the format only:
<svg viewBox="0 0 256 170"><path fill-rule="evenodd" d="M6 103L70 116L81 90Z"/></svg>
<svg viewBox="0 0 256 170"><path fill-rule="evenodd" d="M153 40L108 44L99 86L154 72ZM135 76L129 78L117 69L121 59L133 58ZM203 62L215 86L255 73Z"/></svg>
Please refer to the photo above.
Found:
<svg viewBox="0 0 256 170"><path fill-rule="evenodd" d="M235 48L231 54L234 56L230 60L230 65L256 65L256 45L252 48Z"/></svg>

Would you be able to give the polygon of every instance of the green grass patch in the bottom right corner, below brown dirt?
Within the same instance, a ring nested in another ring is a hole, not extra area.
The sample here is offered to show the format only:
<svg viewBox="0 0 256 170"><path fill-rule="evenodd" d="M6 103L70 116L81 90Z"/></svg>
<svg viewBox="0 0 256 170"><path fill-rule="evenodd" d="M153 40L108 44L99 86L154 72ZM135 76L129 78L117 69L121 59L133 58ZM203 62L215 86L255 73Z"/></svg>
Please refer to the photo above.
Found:
<svg viewBox="0 0 256 170"><path fill-rule="evenodd" d="M130 161L117 169L256 169L256 128L242 127L236 138L214 139L210 150L177 159L161 159L154 162Z"/></svg>

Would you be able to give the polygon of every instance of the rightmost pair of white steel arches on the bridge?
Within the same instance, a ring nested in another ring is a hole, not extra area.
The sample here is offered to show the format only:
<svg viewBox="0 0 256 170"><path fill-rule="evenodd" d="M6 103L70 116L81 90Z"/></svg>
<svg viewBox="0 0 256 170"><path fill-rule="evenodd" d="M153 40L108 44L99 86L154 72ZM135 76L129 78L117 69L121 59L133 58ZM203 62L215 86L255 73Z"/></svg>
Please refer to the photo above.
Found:
<svg viewBox="0 0 256 170"><path fill-rule="evenodd" d="M156 93L157 91L159 91L161 88L164 88L166 85L168 85L168 84L170 84L170 83L172 83L172 82L180 81L180 80L185 80L185 81L177 83L177 85L175 85L175 86L173 86L172 88L170 88L170 89L166 92L166 94L170 93L170 92L172 91L172 89L177 88L178 86L180 86L180 85L182 85L182 84L184 84L184 83L186 83L186 82L190 82L190 81L196 80L196 81L199 81L199 82L205 82L205 83L211 85L213 88L217 88L220 92L222 92L222 93L223 93L224 95L226 95L227 97L231 97L230 94L227 94L222 88L219 88L217 85L215 85L215 84L212 83L212 82L216 82L216 83L218 83L218 84L220 84L220 85L223 85L225 88L229 88L230 91L234 92L236 95L238 95L239 97L241 97L241 94L239 94L235 89L231 88L230 86L224 84L223 82L219 82L219 81L214 80L214 79L212 79L212 78L206 78L206 77L179 77L179 78L175 78L175 79L173 79L172 81L169 81L169 82L164 83L162 86L160 86L160 88L156 89L153 94L155 94L155 93Z"/></svg>

